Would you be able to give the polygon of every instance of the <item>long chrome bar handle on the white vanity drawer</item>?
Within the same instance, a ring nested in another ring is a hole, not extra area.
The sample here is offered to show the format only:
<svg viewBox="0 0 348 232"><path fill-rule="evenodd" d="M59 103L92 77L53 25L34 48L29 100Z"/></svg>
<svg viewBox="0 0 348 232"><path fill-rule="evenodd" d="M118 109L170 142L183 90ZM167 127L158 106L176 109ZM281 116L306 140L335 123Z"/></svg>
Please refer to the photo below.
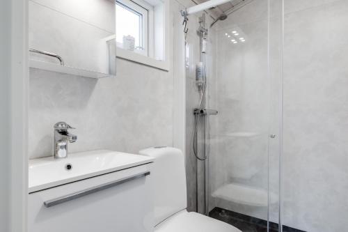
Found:
<svg viewBox="0 0 348 232"><path fill-rule="evenodd" d="M81 190L79 192L74 192L72 194L68 194L68 195L65 195L65 196L60 196L60 197L58 197L56 199L45 201L44 205L47 208L52 207L52 206L56 206L58 204L66 202L66 201L72 201L72 200L78 199L78 198L80 198L82 196L93 194L95 192L100 192L102 190L109 189L110 187L114 187L116 185L120 185L122 183L126 183L126 182L129 182L131 180L136 180L138 178L142 178L142 177L145 177L145 176L148 176L148 175L150 175L150 171L145 171L143 173L139 173L139 174L136 174L134 176L129 176L127 178L122 178L120 180L115 180L115 181L112 181L112 182L109 182L109 183L105 183L103 185L90 187L90 188L88 188L86 190Z"/></svg>

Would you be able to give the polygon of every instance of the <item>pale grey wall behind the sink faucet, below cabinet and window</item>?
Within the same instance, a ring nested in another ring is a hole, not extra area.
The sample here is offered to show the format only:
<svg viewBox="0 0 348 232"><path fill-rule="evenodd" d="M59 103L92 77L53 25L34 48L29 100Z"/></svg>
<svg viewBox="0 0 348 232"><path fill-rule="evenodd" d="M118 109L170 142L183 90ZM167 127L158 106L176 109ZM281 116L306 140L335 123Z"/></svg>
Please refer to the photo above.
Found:
<svg viewBox="0 0 348 232"><path fill-rule="evenodd" d="M70 152L172 146L173 77L128 61L117 65L117 77L98 80L31 69L31 158L52 155L58 121L77 128Z"/></svg>

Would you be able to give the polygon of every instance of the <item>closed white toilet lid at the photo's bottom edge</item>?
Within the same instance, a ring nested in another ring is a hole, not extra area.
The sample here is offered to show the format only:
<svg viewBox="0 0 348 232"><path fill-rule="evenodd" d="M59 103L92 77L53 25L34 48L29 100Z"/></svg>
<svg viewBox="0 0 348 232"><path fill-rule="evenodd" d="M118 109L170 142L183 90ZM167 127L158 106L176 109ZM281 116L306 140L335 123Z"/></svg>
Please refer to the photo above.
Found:
<svg viewBox="0 0 348 232"><path fill-rule="evenodd" d="M182 210L155 227L155 232L242 232L239 229L197 212Z"/></svg>

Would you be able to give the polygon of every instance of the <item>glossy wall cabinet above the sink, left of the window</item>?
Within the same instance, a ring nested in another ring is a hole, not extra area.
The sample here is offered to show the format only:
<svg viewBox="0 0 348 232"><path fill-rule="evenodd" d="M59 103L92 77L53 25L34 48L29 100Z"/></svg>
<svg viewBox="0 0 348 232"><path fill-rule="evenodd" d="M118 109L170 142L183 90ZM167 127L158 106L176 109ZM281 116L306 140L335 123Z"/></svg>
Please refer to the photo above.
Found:
<svg viewBox="0 0 348 232"><path fill-rule="evenodd" d="M115 3L29 1L31 68L83 77L116 75Z"/></svg>

